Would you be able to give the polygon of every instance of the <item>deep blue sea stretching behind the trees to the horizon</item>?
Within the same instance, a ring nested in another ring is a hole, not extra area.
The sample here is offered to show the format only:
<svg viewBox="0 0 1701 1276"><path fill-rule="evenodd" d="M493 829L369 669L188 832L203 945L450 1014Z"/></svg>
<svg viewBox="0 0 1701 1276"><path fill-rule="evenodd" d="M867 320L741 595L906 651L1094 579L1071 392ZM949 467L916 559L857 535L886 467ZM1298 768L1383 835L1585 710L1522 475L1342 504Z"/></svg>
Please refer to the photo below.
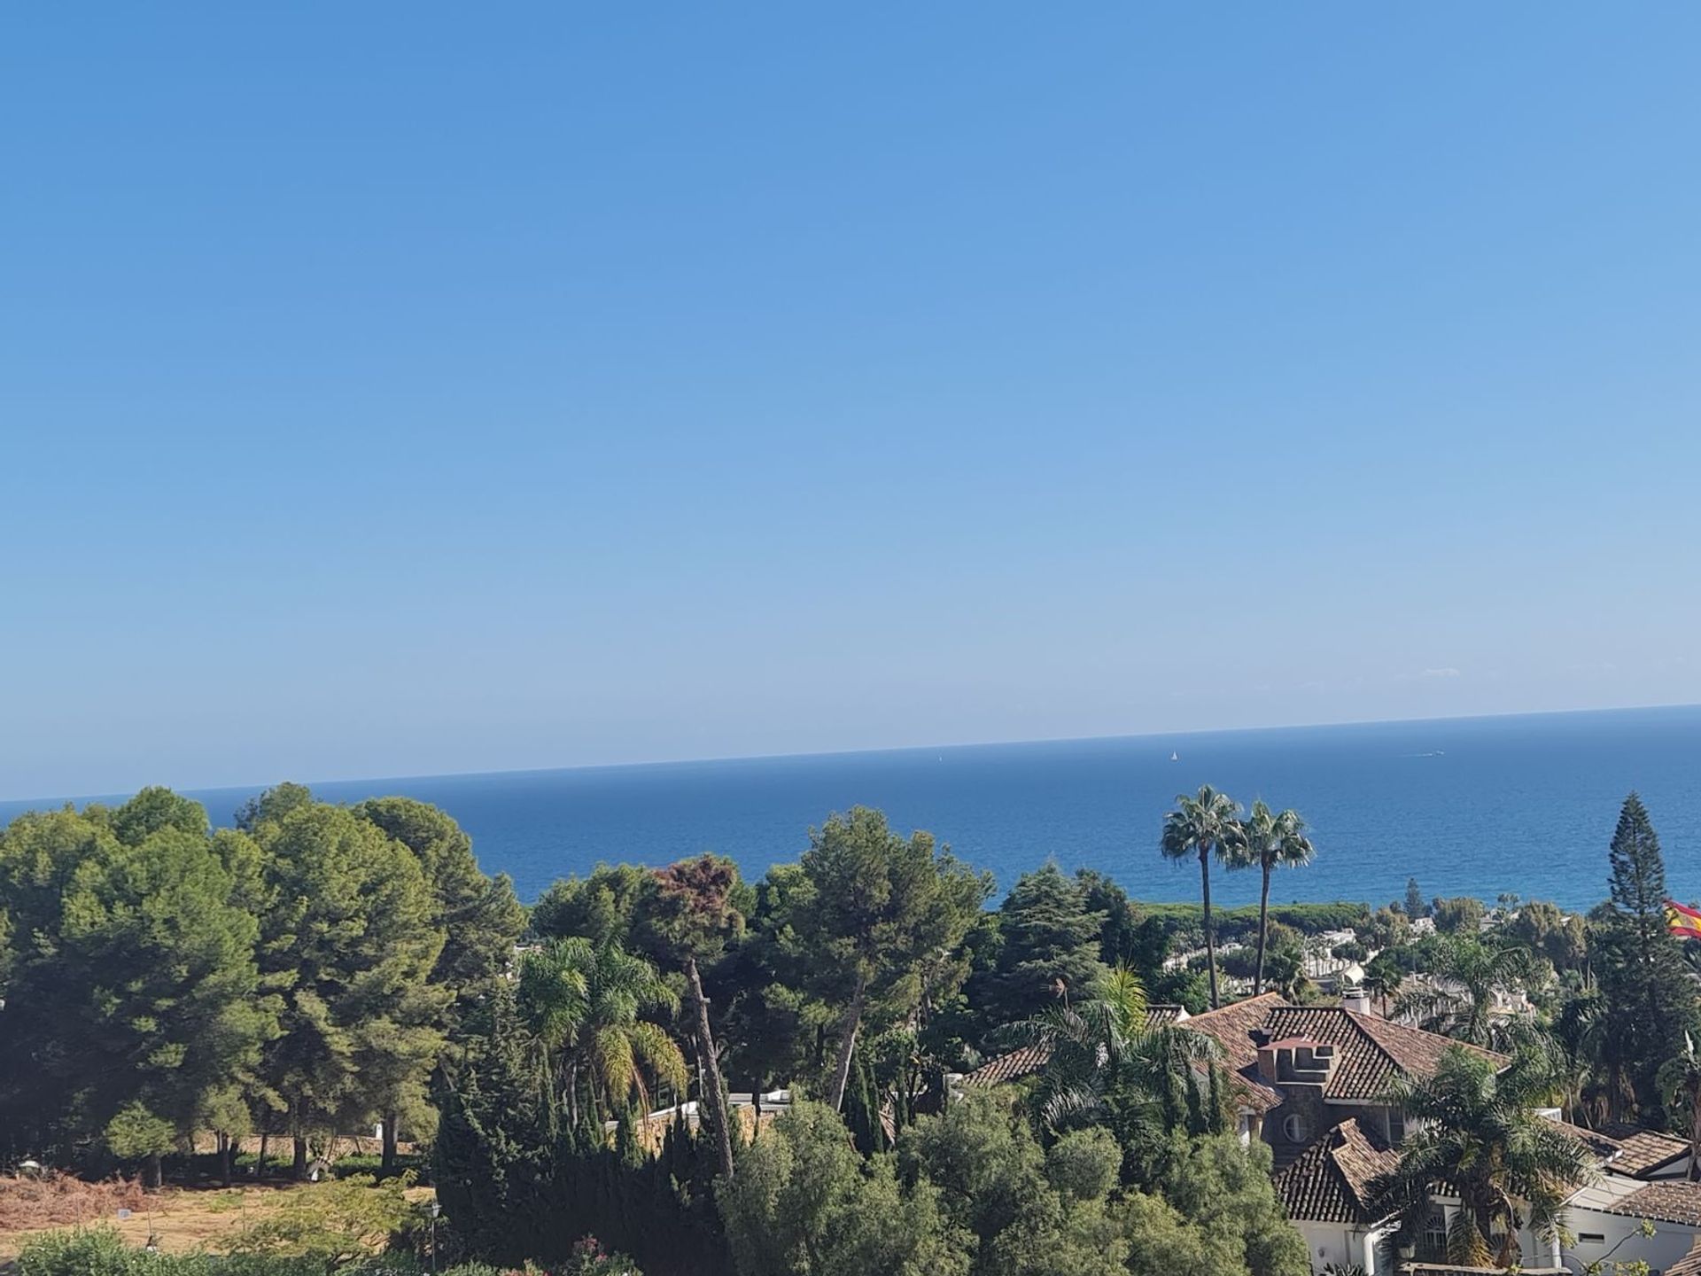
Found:
<svg viewBox="0 0 1701 1276"><path fill-rule="evenodd" d="M808 829L852 805L927 829L1005 888L1055 857L1143 900L1192 900L1198 866L1158 856L1177 793L1215 784L1294 806L1317 861L1276 900L1502 891L1587 907L1606 897L1607 842L1630 789L1647 801L1672 891L1701 895L1701 706L1446 721L902 749L655 766L313 784L330 801L405 793L454 815L488 871L524 898L597 861L665 864L699 851L750 876L796 859ZM192 791L228 823L257 789ZM0 822L56 801L0 803ZM1254 874L1215 874L1223 903Z"/></svg>

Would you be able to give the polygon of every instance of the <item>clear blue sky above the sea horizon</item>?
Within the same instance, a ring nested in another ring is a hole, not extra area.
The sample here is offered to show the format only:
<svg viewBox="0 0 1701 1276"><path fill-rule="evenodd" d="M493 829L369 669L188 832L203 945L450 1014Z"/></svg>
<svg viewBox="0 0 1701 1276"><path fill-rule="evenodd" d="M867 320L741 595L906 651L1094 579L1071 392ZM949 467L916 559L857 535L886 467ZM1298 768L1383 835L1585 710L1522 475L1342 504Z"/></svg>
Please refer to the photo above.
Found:
<svg viewBox="0 0 1701 1276"><path fill-rule="evenodd" d="M1698 48L14 10L0 796L1701 699Z"/></svg>

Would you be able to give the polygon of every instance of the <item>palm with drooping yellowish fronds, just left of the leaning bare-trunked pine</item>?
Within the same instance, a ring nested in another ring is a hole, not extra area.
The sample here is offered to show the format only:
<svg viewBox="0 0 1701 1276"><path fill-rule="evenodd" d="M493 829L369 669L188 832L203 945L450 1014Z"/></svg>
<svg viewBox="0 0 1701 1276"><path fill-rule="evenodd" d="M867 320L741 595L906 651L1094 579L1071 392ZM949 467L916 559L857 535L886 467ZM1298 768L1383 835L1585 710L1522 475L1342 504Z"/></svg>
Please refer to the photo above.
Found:
<svg viewBox="0 0 1701 1276"><path fill-rule="evenodd" d="M686 1057L645 1011L679 1009L679 997L643 958L619 944L558 939L521 963L519 1000L555 1068L573 1121L578 1101L614 1113L631 1099L648 1106L650 1082L686 1085Z"/></svg>

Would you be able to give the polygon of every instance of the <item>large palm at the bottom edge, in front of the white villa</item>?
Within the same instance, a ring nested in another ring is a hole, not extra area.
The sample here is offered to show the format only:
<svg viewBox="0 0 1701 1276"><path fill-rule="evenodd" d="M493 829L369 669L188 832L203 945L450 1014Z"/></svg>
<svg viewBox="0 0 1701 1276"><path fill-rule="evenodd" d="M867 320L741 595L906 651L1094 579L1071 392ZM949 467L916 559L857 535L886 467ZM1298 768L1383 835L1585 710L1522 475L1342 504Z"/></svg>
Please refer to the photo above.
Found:
<svg viewBox="0 0 1701 1276"><path fill-rule="evenodd" d="M1400 1165L1371 1182L1373 1208L1397 1220L1393 1244L1419 1240L1436 1184L1459 1201L1448 1262L1510 1267L1522 1227L1551 1244L1567 1198L1594 1177L1589 1150L1534 1111L1553 1087L1541 1051L1521 1050L1497 1074L1493 1062L1463 1046L1449 1046L1427 1080L1397 1080L1385 1102L1405 1111Z"/></svg>

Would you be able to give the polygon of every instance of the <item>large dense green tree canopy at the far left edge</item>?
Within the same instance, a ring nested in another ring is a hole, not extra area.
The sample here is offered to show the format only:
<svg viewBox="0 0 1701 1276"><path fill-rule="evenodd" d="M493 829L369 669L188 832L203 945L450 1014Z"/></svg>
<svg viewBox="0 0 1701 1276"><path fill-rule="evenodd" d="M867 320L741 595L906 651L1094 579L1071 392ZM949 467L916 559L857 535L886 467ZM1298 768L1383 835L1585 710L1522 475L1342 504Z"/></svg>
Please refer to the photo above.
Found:
<svg viewBox="0 0 1701 1276"><path fill-rule="evenodd" d="M121 839L114 829L124 829ZM0 1012L0 1128L41 1147L146 1111L192 1130L276 1034L245 907L253 847L209 839L163 789L94 817L19 817L0 837L14 919Z"/></svg>

